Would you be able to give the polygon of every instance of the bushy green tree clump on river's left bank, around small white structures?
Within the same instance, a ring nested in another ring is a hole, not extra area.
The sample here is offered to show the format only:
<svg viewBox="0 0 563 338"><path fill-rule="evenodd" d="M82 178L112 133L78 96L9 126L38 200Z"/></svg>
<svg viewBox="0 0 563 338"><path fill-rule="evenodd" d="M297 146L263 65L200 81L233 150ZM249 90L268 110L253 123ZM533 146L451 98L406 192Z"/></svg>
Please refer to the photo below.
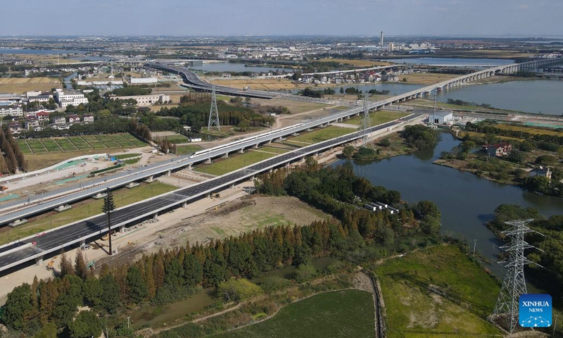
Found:
<svg viewBox="0 0 563 338"><path fill-rule="evenodd" d="M260 175L255 185L262 194L296 196L311 206L334 215L345 226L357 222L356 226L365 239L372 239L374 230L382 231L382 224L378 223L377 218L386 212L371 213L361 208L364 203L379 201L399 206L401 201L400 192L381 186L374 187L364 177L354 175L350 164L322 168L310 158L301 168L291 172L279 169ZM440 228L440 218L435 204L422 201L415 206L400 208L398 218L388 218L390 223L386 224L385 231L391 232L391 236L419 231L436 234Z"/></svg>

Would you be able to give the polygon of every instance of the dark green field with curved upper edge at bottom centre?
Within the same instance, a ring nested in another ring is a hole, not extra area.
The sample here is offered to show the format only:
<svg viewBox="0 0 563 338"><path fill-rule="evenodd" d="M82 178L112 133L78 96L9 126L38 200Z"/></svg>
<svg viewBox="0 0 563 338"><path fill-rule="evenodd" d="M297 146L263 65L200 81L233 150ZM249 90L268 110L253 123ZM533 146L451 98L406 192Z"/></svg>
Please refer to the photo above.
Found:
<svg viewBox="0 0 563 338"><path fill-rule="evenodd" d="M317 294L282 308L273 318L214 338L374 337L372 294L345 290Z"/></svg>

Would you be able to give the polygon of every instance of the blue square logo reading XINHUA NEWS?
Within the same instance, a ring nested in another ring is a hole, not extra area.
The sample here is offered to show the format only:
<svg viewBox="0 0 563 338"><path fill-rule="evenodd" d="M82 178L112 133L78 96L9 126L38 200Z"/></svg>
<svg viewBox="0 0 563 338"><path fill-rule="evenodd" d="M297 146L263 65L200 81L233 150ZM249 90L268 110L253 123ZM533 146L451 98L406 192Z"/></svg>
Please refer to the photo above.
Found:
<svg viewBox="0 0 563 338"><path fill-rule="evenodd" d="M521 327L550 327L551 296L549 294L523 294L519 300Z"/></svg>

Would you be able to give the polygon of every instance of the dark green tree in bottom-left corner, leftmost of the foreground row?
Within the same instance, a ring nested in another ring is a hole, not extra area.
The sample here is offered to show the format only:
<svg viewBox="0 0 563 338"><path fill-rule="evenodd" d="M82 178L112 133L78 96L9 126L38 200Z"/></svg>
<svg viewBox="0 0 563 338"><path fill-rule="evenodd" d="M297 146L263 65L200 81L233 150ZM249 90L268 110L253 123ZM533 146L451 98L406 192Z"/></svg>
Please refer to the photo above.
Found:
<svg viewBox="0 0 563 338"><path fill-rule="evenodd" d="M4 306L4 322L13 330L22 330L25 327L25 313L32 308L31 286L23 283L15 287L8 294Z"/></svg>

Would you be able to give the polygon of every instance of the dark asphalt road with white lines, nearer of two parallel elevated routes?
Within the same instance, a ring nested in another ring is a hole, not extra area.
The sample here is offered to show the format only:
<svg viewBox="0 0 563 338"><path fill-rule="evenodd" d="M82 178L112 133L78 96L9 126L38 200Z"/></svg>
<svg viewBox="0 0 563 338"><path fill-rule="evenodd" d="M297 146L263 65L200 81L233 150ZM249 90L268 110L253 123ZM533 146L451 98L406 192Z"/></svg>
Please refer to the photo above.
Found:
<svg viewBox="0 0 563 338"><path fill-rule="evenodd" d="M411 116L410 119L418 117L420 114ZM390 123L384 123L376 127L372 127L371 131L384 130L393 125L398 125L402 123L403 120L393 121ZM239 180L243 180L244 177L258 174L262 171L267 170L267 168L272 168L272 166L283 165L291 161L291 158L296 156L304 156L305 154L314 154L315 151L320 151L322 149L327 149L327 147L332 145L342 144L353 139L358 139L360 134L355 132L353 134L348 134L343 137L337 137L335 139L330 139L325 142L318 144L312 144L305 148L296 149L290 151L289 153L282 154L280 156L267 159L260 163L254 165L249 165L243 170L236 171L227 175L222 175L213 180L208 180L201 182L199 184L192 185L183 189L178 189L170 194L164 194L158 196L154 199L140 202L139 204L134 204L132 206L126 206L116 210L111 215L112 228L119 227L120 225L125 225L134 218L139 218L143 215L150 215L158 211L160 208L166 208L172 205L182 204L183 201L189 201L202 196L204 192L210 189L220 189L221 187L228 186ZM36 242L32 248L26 248L18 251L13 251L4 256L0 256L0 271L6 270L6 265L20 262L24 263L32 259L34 255L37 255L40 251L46 253L53 252L61 248L61 246L68 246L80 242L80 238L84 237L101 237L102 234L107 230L107 216L99 215L89 220L84 220L73 225L66 227L61 227L59 229L53 230L51 232L46 232L44 234L37 235L36 237L31 237L24 239L20 244L11 244L9 249L13 249L14 245L25 245L27 243ZM1 252L7 251L8 246L0 247Z"/></svg>

